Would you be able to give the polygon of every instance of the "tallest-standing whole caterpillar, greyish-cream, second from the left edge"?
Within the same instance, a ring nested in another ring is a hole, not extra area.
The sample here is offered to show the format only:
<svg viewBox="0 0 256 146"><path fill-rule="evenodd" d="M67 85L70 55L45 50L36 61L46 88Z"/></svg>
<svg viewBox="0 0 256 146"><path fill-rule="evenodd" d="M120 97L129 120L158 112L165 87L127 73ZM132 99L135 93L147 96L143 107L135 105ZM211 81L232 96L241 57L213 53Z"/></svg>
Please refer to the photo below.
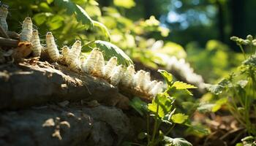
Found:
<svg viewBox="0 0 256 146"><path fill-rule="evenodd" d="M25 18L22 24L22 30L20 33L20 41L30 42L33 32L33 23L31 18Z"/></svg>

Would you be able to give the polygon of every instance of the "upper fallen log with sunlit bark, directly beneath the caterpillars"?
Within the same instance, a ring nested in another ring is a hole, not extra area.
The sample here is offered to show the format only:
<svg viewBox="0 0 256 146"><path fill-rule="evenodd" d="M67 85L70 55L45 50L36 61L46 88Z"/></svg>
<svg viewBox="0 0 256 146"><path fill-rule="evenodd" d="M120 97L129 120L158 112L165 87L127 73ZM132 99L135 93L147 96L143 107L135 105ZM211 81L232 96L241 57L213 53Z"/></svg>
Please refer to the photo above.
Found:
<svg viewBox="0 0 256 146"><path fill-rule="evenodd" d="M105 80L69 71L42 61L0 66L0 110L18 109L49 101L97 100L127 108L129 99Z"/></svg>

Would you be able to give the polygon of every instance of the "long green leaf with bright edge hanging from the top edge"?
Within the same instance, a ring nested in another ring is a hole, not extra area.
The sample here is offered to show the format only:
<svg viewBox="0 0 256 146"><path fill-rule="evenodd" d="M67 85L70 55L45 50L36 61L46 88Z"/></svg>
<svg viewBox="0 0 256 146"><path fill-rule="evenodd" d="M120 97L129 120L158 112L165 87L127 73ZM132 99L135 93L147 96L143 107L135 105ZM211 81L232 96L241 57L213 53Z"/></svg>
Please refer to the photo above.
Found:
<svg viewBox="0 0 256 146"><path fill-rule="evenodd" d="M78 4L73 3L70 0L54 0L56 6L62 7L64 9L67 9L67 13L69 15L75 15L78 22L82 22L86 28L94 28L94 23L92 22L89 15L86 13L86 11L80 7Z"/></svg>

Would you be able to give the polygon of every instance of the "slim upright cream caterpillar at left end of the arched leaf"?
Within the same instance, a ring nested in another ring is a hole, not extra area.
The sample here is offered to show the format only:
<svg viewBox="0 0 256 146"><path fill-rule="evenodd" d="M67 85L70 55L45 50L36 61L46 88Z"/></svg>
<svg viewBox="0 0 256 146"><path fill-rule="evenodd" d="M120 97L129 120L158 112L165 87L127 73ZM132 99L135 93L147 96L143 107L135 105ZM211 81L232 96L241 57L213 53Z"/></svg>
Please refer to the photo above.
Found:
<svg viewBox="0 0 256 146"><path fill-rule="evenodd" d="M102 52L97 53L97 62L94 65L94 74L98 77L103 77L103 69L105 66L105 61Z"/></svg>

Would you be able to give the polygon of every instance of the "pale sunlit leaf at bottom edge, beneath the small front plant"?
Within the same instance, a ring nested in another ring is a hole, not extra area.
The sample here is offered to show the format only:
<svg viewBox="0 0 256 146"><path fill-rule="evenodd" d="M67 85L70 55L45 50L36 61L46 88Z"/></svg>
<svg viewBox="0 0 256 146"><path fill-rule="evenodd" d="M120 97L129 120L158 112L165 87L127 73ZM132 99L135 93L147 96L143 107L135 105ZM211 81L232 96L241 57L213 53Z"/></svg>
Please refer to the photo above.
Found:
<svg viewBox="0 0 256 146"><path fill-rule="evenodd" d="M193 146L190 142L188 142L184 138L170 138L164 137L165 146Z"/></svg>

